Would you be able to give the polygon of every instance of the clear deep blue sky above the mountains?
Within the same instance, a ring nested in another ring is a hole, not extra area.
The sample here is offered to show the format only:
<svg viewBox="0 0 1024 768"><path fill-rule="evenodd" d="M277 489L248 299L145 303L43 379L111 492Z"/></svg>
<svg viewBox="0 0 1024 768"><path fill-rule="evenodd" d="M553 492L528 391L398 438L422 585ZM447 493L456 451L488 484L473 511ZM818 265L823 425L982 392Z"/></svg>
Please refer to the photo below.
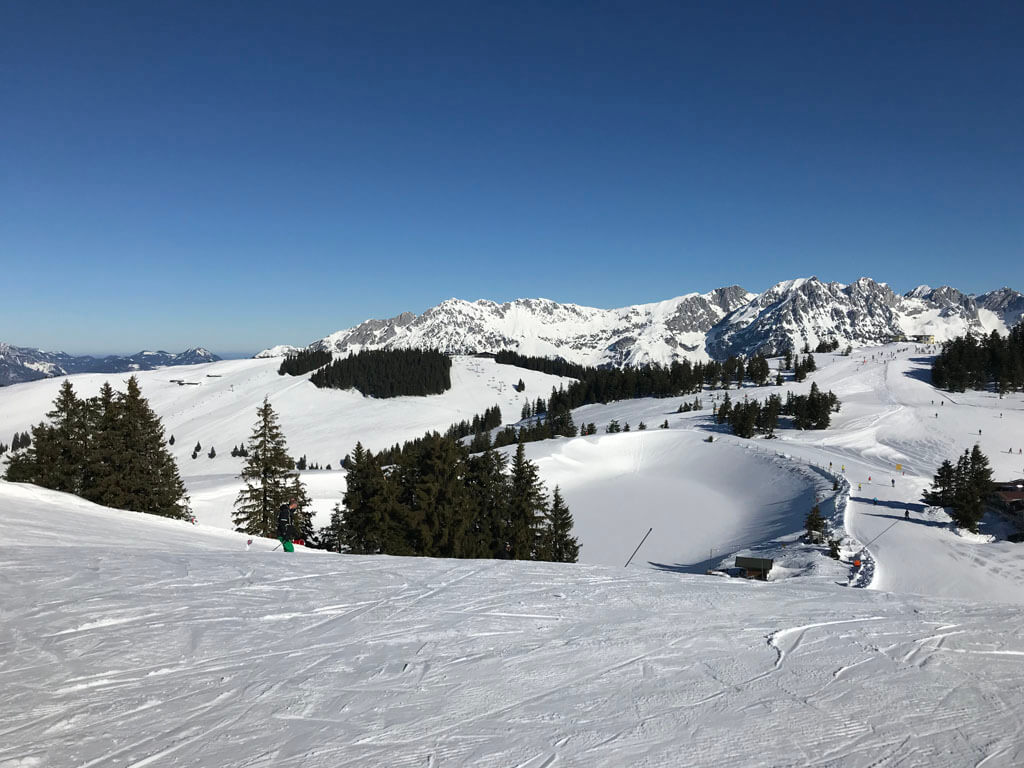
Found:
<svg viewBox="0 0 1024 768"><path fill-rule="evenodd" d="M0 340L1021 290L1022 41L1020 2L0 0Z"/></svg>

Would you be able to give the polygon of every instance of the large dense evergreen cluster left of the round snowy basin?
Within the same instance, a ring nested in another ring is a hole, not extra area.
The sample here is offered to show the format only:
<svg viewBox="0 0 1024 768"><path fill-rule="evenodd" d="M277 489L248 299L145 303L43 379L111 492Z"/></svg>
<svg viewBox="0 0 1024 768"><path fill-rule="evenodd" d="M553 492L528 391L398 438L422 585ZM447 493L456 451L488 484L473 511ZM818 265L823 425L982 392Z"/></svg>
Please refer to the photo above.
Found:
<svg viewBox="0 0 1024 768"><path fill-rule="evenodd" d="M579 557L561 493L556 487L548 500L521 444L508 465L496 451L470 455L457 440L432 433L393 466L361 444L345 463L343 502L319 532L330 549L557 562Z"/></svg>

